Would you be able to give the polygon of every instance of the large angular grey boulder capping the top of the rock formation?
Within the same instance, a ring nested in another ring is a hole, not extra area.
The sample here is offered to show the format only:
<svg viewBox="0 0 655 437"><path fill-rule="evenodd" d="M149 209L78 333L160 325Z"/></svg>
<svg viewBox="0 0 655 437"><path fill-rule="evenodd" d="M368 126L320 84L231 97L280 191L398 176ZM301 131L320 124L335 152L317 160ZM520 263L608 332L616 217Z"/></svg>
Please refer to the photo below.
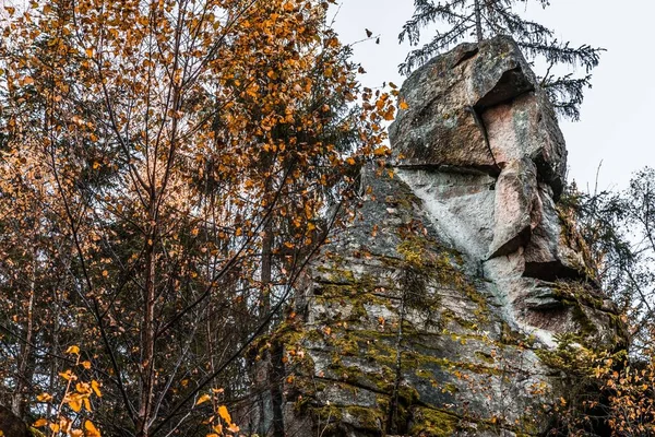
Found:
<svg viewBox="0 0 655 437"><path fill-rule="evenodd" d="M498 174L529 157L539 178L564 181L567 152L547 96L515 43L497 37L464 44L407 79L408 109L390 128L403 166L455 166Z"/></svg>

